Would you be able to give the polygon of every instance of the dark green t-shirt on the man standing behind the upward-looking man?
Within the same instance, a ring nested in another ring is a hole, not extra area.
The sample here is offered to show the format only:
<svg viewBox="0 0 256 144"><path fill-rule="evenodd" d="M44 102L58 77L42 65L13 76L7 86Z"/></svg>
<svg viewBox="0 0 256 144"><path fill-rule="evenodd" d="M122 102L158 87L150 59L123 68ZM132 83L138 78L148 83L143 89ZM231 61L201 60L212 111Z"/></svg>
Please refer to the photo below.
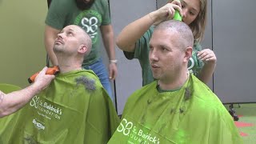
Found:
<svg viewBox="0 0 256 144"><path fill-rule="evenodd" d="M110 25L110 11L106 0L97 0L90 10L79 10L74 0L53 0L46 17L46 25L62 30L68 25L81 26L92 39L92 49L82 66L88 66L101 57L100 26Z"/></svg>

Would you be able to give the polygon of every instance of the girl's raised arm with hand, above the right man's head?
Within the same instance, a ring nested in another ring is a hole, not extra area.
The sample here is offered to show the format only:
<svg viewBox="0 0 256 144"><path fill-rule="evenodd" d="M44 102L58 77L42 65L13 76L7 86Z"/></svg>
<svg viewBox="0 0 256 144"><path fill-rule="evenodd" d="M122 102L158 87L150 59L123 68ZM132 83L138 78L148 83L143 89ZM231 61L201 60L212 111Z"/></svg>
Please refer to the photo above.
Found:
<svg viewBox="0 0 256 144"><path fill-rule="evenodd" d="M167 3L160 9L146 14L144 17L131 22L126 26L118 35L116 43L121 50L134 52L135 42L146 33L146 30L153 24L158 25L160 22L172 19L174 17L175 10L182 12L181 3L174 1Z"/></svg>

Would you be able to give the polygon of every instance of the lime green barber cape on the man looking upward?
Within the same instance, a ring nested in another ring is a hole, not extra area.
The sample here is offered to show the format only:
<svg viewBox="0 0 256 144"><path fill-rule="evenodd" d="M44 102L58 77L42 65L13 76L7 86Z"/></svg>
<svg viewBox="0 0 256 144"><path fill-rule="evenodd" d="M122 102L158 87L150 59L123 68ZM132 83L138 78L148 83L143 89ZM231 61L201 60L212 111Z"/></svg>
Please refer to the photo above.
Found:
<svg viewBox="0 0 256 144"><path fill-rule="evenodd" d="M109 141L119 119L91 70L58 74L22 110L0 120L0 143L92 143Z"/></svg>

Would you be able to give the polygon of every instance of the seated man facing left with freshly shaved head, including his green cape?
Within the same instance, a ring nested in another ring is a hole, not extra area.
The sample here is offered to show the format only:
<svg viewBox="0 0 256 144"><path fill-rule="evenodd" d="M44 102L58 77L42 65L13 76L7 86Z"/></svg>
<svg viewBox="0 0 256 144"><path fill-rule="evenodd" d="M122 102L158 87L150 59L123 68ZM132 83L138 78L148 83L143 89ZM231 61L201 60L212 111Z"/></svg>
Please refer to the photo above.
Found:
<svg viewBox="0 0 256 144"><path fill-rule="evenodd" d="M157 80L128 98L109 144L242 143L222 102L187 70L193 42L183 22L156 26L149 58Z"/></svg>

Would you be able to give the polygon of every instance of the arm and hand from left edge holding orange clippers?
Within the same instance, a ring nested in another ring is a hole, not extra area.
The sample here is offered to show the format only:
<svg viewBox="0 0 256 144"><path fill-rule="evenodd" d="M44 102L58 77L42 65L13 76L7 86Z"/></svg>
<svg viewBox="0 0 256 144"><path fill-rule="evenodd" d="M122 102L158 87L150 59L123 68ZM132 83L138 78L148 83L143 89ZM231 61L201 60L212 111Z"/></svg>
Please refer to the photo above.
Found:
<svg viewBox="0 0 256 144"><path fill-rule="evenodd" d="M35 78L35 82L25 89L4 94L0 90L0 118L13 114L30 101L34 95L44 90L54 79L54 75L46 74L47 67L44 67Z"/></svg>

